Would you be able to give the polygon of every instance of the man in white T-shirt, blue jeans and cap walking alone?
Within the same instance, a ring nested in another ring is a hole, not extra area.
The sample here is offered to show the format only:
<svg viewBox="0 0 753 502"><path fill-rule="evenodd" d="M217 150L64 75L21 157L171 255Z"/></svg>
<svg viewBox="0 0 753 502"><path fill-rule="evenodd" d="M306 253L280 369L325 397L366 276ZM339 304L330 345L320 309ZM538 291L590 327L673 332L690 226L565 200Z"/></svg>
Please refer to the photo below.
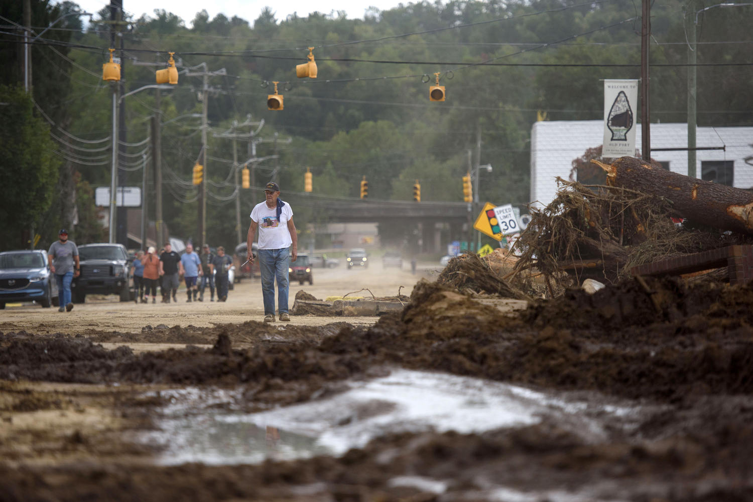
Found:
<svg viewBox="0 0 753 502"><path fill-rule="evenodd" d="M248 227L247 257L254 263L252 244L259 229L259 268L261 296L264 299L264 322L275 320L275 279L277 279L277 310L280 321L290 321L288 315L288 266L298 257L298 236L293 224L290 204L279 198L279 186L270 181L264 187L265 200L251 211ZM288 248L290 253L288 254Z"/></svg>

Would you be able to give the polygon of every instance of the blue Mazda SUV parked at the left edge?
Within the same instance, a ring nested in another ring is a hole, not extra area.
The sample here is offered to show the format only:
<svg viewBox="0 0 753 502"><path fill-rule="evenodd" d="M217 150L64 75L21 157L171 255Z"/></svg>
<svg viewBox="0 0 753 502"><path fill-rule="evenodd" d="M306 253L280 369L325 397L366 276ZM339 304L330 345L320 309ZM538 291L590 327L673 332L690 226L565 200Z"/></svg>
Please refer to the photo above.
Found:
<svg viewBox="0 0 753 502"><path fill-rule="evenodd" d="M5 303L29 300L45 308L57 305L57 281L50 272L47 252L0 253L0 309L5 309Z"/></svg>

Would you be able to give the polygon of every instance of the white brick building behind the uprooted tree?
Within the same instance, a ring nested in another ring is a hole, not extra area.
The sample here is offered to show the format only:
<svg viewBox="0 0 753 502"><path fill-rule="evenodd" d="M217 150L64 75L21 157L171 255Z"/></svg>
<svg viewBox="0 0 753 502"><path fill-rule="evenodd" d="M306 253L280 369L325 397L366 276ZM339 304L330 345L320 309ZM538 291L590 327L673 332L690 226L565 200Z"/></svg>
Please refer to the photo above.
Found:
<svg viewBox="0 0 753 502"><path fill-rule="evenodd" d="M641 146L641 125L636 124L636 147ZM541 121L531 130L531 201L547 205L556 196L556 177L569 179L572 161L588 148L602 145L603 120ZM753 127L698 127L696 145L726 150L696 152L699 178L738 188L753 187ZM651 158L672 172L687 175L687 151L654 151L654 148L687 148L687 124L652 123Z"/></svg>

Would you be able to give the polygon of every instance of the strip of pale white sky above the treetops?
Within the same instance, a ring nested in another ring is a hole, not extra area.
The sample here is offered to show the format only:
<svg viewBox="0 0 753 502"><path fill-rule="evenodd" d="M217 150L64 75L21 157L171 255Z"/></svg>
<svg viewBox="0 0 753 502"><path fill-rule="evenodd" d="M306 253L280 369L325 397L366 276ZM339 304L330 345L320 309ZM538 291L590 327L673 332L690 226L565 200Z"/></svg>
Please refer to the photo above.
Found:
<svg viewBox="0 0 753 502"><path fill-rule="evenodd" d="M92 13L110 5L108 0L72 1L81 5L84 11ZM164 9L180 17L190 28L191 21L196 17L196 13L202 9L209 13L209 19L222 13L228 19L238 16L247 20L253 26L254 20L259 17L261 10L267 6L270 6L272 11L276 13L276 19L282 21L294 12L299 17L307 17L310 12L314 11L323 14L330 14L331 11L346 11L349 19L363 19L364 12L370 6L376 7L380 11L386 11L400 3L400 0L328 0L328 2L321 0L315 2L305 2L304 0L288 0L287 2L273 2L273 0L210 0L209 2L206 0L171 0L170 2L164 0L161 2L160 0L123 0L123 10L133 14L134 18L139 18L142 14L154 17L154 9ZM404 1L404 3L409 2Z"/></svg>

